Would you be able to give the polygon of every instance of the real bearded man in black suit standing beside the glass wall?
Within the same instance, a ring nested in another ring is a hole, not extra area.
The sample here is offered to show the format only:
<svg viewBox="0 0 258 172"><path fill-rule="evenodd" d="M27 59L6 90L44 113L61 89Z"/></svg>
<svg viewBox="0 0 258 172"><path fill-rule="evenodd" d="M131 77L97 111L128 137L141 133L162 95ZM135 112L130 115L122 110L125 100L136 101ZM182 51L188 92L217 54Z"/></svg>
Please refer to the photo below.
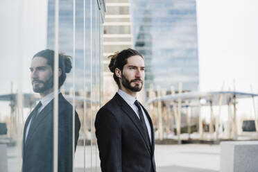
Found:
<svg viewBox="0 0 258 172"><path fill-rule="evenodd" d="M133 49L111 58L119 90L96 114L101 170L155 172L153 123L136 99L144 84L144 58Z"/></svg>

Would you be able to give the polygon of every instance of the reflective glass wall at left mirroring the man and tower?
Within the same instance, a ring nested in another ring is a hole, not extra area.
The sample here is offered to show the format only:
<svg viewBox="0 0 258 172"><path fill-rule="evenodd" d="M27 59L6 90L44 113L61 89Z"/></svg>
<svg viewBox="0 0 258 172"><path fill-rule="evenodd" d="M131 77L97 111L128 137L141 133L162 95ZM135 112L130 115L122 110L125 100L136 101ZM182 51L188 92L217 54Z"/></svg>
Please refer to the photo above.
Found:
<svg viewBox="0 0 258 172"><path fill-rule="evenodd" d="M0 171L100 171L105 1L0 4Z"/></svg>

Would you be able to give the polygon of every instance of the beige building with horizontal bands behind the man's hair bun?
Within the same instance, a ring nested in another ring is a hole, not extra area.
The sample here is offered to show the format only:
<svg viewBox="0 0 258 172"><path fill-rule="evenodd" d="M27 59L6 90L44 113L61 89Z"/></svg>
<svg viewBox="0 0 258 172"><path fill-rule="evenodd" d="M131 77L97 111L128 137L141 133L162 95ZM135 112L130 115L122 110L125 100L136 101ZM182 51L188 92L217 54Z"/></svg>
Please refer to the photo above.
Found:
<svg viewBox="0 0 258 172"><path fill-rule="evenodd" d="M132 47L129 0L107 0L104 23L104 102L117 92L117 84L108 68L108 55Z"/></svg>

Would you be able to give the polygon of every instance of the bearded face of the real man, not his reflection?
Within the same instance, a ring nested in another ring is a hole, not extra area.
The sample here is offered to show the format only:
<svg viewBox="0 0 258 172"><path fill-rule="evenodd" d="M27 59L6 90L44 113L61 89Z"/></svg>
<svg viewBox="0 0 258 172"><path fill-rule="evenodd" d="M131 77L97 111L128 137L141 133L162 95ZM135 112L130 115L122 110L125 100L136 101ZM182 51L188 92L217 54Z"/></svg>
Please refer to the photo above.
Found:
<svg viewBox="0 0 258 172"><path fill-rule="evenodd" d="M127 59L127 64L123 66L121 73L121 84L131 92L141 91L144 85L144 59L139 55Z"/></svg>

